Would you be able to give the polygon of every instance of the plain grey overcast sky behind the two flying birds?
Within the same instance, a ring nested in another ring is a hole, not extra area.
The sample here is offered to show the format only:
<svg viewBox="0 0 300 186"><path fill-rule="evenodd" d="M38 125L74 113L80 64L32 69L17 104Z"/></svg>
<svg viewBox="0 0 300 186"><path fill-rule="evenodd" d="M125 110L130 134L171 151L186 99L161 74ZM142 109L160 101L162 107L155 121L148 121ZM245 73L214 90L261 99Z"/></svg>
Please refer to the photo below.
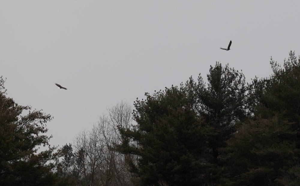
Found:
<svg viewBox="0 0 300 186"><path fill-rule="evenodd" d="M0 1L0 75L43 109L51 145L72 143L121 100L204 80L209 66L271 74L298 56L300 1ZM231 50L226 48L232 40ZM54 83L68 90L57 89Z"/></svg>

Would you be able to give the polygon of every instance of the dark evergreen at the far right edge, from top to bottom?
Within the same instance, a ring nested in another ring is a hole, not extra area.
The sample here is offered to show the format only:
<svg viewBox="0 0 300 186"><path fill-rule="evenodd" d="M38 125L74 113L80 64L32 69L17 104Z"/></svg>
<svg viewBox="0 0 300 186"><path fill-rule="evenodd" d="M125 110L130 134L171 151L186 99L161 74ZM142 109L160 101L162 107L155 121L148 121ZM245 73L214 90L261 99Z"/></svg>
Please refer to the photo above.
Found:
<svg viewBox="0 0 300 186"><path fill-rule="evenodd" d="M298 184L300 60L291 51L284 68L270 64L274 74L253 81L254 117L228 141L226 185Z"/></svg>

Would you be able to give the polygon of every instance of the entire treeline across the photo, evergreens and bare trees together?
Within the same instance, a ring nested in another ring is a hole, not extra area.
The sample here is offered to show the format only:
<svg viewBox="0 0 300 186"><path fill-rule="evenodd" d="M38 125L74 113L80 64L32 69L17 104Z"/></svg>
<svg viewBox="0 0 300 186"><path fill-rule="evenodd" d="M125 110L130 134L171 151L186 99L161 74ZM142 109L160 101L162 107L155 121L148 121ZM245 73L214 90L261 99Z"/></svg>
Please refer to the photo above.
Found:
<svg viewBox="0 0 300 186"><path fill-rule="evenodd" d="M121 102L61 148L51 115L15 103L1 77L0 185L299 185L299 58L271 59L273 73L248 83L216 62L206 83Z"/></svg>

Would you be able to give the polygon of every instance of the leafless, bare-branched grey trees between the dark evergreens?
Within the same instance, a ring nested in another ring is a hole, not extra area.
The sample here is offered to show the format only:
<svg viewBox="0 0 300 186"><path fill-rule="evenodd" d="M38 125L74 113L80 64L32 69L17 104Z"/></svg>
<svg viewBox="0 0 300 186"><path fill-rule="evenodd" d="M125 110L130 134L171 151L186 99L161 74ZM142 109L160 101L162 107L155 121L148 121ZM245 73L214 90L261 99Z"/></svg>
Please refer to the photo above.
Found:
<svg viewBox="0 0 300 186"><path fill-rule="evenodd" d="M132 107L121 102L107 110L109 114L103 115L91 131L81 132L74 139L76 185L132 185L126 158L135 157L125 157L115 149L115 144L124 140L119 129L132 126Z"/></svg>

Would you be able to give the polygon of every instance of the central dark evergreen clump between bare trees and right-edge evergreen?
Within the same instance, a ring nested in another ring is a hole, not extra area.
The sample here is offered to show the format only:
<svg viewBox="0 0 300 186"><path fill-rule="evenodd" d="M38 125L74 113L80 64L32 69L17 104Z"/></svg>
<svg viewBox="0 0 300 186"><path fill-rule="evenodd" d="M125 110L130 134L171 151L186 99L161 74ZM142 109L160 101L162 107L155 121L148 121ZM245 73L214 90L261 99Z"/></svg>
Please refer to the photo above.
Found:
<svg viewBox="0 0 300 186"><path fill-rule="evenodd" d="M133 130L121 130L128 139L123 153L139 155L131 165L141 185L164 180L170 185L198 185L217 180L235 125L248 115L244 75L216 63L208 86L202 77L172 86L134 104ZM220 158L221 156L221 158ZM220 161L222 160L222 161Z"/></svg>

